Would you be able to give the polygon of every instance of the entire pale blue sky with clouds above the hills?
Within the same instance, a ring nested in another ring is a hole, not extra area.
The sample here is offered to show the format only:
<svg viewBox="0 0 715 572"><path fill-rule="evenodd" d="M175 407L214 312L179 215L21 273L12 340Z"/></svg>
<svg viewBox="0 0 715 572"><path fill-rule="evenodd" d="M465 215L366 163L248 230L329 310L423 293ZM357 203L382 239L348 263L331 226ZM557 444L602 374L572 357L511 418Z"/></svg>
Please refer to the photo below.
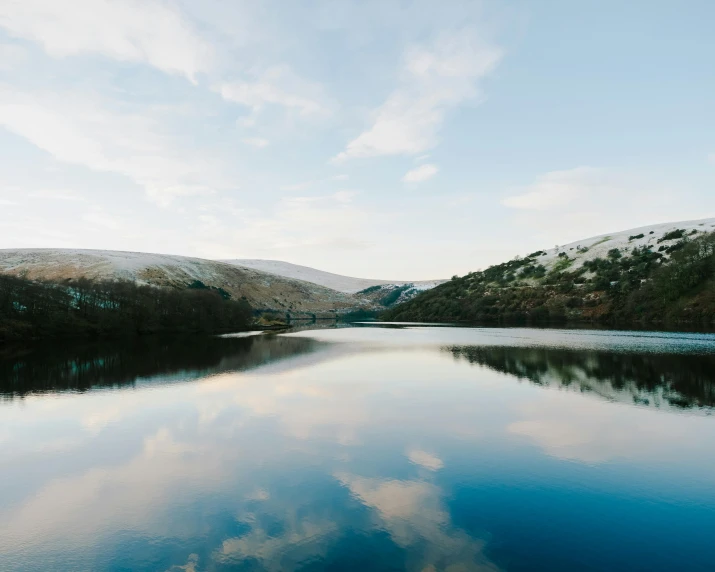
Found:
<svg viewBox="0 0 715 572"><path fill-rule="evenodd" d="M715 216L710 0L0 0L0 248L464 274Z"/></svg>

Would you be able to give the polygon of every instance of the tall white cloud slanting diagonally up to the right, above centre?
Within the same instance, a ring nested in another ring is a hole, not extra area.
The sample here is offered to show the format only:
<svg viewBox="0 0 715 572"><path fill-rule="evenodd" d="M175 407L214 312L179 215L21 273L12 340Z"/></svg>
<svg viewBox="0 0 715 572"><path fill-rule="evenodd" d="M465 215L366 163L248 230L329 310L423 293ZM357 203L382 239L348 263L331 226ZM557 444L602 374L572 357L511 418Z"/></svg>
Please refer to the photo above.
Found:
<svg viewBox="0 0 715 572"><path fill-rule="evenodd" d="M445 34L429 47L407 51L400 86L374 113L372 126L333 161L380 155L416 155L434 147L446 112L478 97L476 82L501 50L468 31Z"/></svg>

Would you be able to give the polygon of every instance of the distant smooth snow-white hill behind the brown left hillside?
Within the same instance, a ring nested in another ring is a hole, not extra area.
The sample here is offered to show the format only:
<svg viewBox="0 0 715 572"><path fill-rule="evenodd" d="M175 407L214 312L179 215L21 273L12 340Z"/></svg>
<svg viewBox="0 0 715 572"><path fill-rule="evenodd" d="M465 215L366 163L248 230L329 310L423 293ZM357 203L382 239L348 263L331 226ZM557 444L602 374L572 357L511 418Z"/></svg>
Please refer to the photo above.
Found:
<svg viewBox="0 0 715 572"><path fill-rule="evenodd" d="M446 280L422 280L410 282L408 280L374 280L371 278L353 278L351 276L333 274L332 272L316 270L315 268L291 264L290 262L283 262L281 260L236 259L222 260L221 262L234 264L244 268L252 268L262 272L270 272L271 274L276 274L285 278L305 280L306 282L312 282L313 284L325 286L326 288L331 288L332 290L345 292L347 294L355 294L373 286L406 286L408 284L413 285L416 290L428 290L430 288L434 288L438 284L442 284L442 282L446 282Z"/></svg>

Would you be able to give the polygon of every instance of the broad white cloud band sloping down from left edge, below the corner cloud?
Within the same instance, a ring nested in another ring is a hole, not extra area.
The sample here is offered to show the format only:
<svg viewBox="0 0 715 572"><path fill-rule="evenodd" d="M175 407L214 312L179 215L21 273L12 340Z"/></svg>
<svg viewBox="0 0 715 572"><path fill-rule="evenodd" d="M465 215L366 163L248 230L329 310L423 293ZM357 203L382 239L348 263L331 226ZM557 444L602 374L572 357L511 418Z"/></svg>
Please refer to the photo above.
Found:
<svg viewBox="0 0 715 572"><path fill-rule="evenodd" d="M77 94L0 89L0 126L63 163L124 175L161 205L222 183L212 159L176 148L151 118L115 113Z"/></svg>

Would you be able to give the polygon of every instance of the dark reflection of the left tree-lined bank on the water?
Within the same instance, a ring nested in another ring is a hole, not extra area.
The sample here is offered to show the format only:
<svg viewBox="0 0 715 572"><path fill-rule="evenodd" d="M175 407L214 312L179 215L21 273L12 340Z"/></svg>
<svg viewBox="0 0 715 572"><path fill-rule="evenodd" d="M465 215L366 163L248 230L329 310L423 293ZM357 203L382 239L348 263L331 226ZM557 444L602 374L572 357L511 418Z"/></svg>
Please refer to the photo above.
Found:
<svg viewBox="0 0 715 572"><path fill-rule="evenodd" d="M111 344L40 345L0 357L0 395L85 391L241 371L316 351L309 338L138 338ZM161 379L151 379L161 376Z"/></svg>

